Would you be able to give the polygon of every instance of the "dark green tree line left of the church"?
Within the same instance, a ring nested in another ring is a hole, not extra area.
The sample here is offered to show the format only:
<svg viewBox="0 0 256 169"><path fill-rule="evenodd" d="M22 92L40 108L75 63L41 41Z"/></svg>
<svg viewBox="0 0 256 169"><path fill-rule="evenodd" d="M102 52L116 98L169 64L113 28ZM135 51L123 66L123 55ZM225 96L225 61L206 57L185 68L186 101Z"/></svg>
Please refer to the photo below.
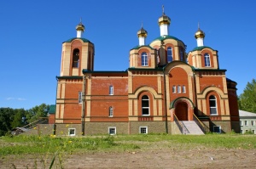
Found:
<svg viewBox="0 0 256 169"><path fill-rule="evenodd" d="M48 104L40 104L29 110L0 108L0 137L8 134L15 127L24 127L37 121L39 117L47 117L48 111Z"/></svg>

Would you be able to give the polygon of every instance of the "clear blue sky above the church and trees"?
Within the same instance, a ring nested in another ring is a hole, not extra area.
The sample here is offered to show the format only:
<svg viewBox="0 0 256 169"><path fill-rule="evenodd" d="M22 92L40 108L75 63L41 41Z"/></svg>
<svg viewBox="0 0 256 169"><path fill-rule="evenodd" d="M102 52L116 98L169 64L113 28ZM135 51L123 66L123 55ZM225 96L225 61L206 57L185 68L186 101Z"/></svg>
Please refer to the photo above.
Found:
<svg viewBox="0 0 256 169"><path fill-rule="evenodd" d="M142 23L147 44L160 36L162 5L172 20L169 34L187 45L187 53L196 47L200 22L204 44L218 50L220 69L238 83L238 95L256 78L254 0L1 1L0 107L55 104L61 44L76 37L80 18L83 37L95 44L95 70L126 70Z"/></svg>

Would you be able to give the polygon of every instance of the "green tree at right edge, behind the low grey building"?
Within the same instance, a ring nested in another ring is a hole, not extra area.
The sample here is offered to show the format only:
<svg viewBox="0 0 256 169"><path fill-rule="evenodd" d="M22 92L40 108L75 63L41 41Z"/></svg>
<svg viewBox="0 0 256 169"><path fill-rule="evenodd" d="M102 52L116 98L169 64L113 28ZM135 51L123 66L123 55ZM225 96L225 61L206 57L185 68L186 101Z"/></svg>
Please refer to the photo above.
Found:
<svg viewBox="0 0 256 169"><path fill-rule="evenodd" d="M239 96L238 105L240 110L256 113L256 80L247 82L246 88Z"/></svg>

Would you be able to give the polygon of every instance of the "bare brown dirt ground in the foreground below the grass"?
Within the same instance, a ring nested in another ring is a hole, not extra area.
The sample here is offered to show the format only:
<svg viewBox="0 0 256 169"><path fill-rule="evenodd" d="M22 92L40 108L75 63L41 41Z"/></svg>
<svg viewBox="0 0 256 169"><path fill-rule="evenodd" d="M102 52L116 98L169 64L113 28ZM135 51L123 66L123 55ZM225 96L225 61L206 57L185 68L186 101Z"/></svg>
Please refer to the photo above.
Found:
<svg viewBox="0 0 256 169"><path fill-rule="evenodd" d="M82 168L256 168L256 149L137 149L125 152L87 152L63 156L63 166ZM37 165L35 165L35 161ZM40 157L8 156L0 168L44 168ZM46 168L49 168L50 161ZM61 168L55 164L53 168Z"/></svg>

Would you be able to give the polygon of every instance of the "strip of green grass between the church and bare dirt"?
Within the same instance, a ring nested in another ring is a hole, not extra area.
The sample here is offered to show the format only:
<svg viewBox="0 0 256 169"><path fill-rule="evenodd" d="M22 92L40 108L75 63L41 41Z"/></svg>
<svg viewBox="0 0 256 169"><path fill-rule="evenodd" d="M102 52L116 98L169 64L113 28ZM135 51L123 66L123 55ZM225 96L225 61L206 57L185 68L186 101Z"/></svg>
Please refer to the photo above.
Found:
<svg viewBox="0 0 256 169"><path fill-rule="evenodd" d="M134 151L136 149L256 149L256 136L241 134L193 135L117 135L80 138L55 136L16 136L0 138L0 155L55 155L88 151Z"/></svg>

